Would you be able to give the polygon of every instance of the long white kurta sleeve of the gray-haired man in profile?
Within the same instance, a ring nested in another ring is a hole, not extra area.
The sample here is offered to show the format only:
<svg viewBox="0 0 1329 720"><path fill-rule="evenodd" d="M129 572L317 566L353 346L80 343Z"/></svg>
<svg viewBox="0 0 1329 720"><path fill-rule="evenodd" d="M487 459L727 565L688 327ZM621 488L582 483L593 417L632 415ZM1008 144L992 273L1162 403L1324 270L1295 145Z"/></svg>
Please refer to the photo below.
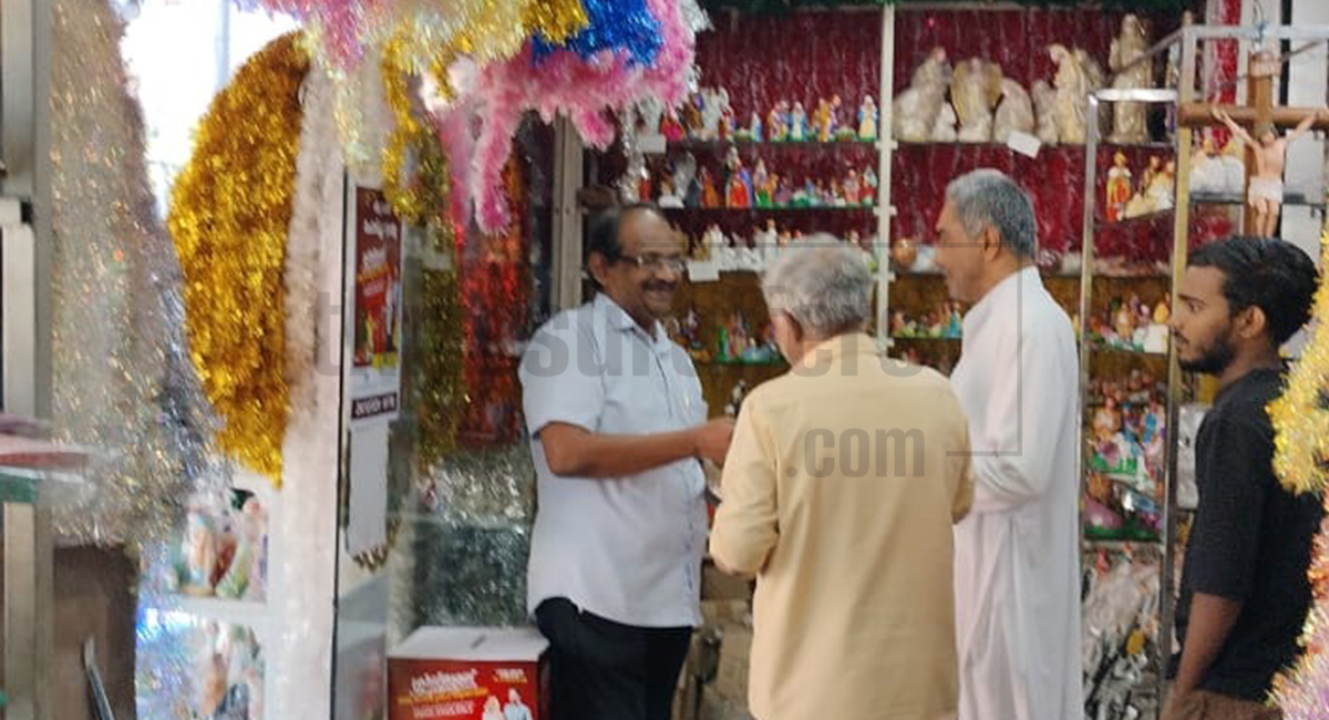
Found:
<svg viewBox="0 0 1329 720"><path fill-rule="evenodd" d="M1015 328L1011 328L1015 329ZM1066 359L1055 337L1011 332L990 359L1005 375L991 385L974 438L973 513L1001 513L1038 498L1053 480L1058 440L1067 417Z"/></svg>

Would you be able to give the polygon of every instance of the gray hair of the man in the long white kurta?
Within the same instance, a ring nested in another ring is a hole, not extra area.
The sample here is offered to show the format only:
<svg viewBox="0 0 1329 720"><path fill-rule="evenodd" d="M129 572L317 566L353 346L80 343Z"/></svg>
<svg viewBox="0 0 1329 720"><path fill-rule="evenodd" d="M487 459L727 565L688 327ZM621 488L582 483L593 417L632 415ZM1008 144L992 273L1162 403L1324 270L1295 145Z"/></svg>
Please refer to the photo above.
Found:
<svg viewBox="0 0 1329 720"><path fill-rule="evenodd" d="M956 207L956 215L970 238L994 227L1002 244L1015 256L1027 259L1038 252L1034 202L1001 170L985 167L950 181L946 202Z"/></svg>

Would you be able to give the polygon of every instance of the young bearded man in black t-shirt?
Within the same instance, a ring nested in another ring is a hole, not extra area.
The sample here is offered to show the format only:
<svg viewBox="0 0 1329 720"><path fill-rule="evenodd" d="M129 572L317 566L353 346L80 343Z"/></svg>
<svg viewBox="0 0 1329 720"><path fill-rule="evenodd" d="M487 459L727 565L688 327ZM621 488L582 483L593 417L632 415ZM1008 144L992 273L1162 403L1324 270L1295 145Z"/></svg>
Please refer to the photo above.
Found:
<svg viewBox="0 0 1329 720"><path fill-rule="evenodd" d="M1216 376L1221 389L1196 436L1200 506L1163 720L1282 717L1265 699L1297 654L1322 510L1275 477L1265 408L1284 389L1278 348L1310 317L1316 286L1310 258L1278 239L1231 238L1191 255L1174 341L1181 367Z"/></svg>

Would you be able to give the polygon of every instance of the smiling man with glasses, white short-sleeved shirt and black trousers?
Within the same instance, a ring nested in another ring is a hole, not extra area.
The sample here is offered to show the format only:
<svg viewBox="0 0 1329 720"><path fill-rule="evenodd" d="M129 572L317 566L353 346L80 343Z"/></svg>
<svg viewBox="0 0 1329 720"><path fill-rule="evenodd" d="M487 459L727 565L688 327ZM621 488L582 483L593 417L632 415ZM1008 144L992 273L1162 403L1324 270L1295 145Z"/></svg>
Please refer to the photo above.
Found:
<svg viewBox="0 0 1329 720"><path fill-rule="evenodd" d="M594 302L562 312L521 363L538 509L528 607L550 642L554 720L668 720L700 624L706 480L732 421L661 325L682 243L630 206L590 234Z"/></svg>

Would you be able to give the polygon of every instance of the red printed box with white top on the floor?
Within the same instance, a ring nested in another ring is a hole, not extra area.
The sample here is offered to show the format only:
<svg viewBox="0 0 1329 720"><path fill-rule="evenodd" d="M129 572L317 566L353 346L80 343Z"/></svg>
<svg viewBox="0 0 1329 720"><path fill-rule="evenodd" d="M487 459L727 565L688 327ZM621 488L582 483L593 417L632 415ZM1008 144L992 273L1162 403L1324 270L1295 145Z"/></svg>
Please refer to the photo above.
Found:
<svg viewBox="0 0 1329 720"><path fill-rule="evenodd" d="M388 656L388 720L546 720L534 628L421 627Z"/></svg>

